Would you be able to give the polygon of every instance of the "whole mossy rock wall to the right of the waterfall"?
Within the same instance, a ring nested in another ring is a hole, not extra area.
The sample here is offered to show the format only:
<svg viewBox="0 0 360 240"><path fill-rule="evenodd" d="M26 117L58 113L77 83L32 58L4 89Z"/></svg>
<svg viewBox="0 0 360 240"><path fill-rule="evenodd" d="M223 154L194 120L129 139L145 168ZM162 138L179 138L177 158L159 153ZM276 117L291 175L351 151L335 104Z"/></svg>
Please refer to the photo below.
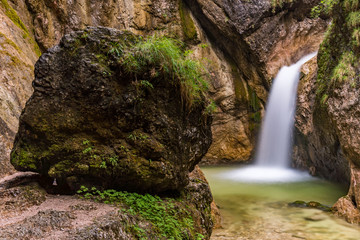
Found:
<svg viewBox="0 0 360 240"><path fill-rule="evenodd" d="M303 150L297 153L309 153L305 158L313 162L315 173L350 181L348 195L339 199L334 209L349 222L359 223L360 9L358 1L333 1L328 7L333 21L318 53L316 83L309 81L315 84L310 87L310 112L301 113L306 107L298 112L298 149ZM304 106L301 100L300 106ZM309 127L300 126L305 116L312 116Z"/></svg>

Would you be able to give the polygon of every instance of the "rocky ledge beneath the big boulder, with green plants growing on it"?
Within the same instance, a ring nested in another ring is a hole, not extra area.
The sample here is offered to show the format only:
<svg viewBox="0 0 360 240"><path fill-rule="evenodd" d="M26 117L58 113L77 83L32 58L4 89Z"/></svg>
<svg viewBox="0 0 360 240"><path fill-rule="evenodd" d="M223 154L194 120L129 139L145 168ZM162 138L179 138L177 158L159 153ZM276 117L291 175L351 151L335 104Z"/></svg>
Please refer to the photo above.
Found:
<svg viewBox="0 0 360 240"><path fill-rule="evenodd" d="M176 198L116 193L126 198L110 204L95 195L50 195L35 182L0 189L0 239L210 237L212 197L199 168Z"/></svg>

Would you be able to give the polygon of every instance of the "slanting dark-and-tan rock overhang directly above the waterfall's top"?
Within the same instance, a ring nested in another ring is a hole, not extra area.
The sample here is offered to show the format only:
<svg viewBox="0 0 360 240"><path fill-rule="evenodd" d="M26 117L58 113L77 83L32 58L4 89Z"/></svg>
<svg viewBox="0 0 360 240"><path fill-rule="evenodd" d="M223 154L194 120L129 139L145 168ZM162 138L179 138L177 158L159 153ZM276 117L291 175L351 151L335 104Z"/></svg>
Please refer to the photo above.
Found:
<svg viewBox="0 0 360 240"><path fill-rule="evenodd" d="M279 68L315 51L327 26L322 19L309 18L316 0L276 8L267 0L186 2L264 102Z"/></svg>

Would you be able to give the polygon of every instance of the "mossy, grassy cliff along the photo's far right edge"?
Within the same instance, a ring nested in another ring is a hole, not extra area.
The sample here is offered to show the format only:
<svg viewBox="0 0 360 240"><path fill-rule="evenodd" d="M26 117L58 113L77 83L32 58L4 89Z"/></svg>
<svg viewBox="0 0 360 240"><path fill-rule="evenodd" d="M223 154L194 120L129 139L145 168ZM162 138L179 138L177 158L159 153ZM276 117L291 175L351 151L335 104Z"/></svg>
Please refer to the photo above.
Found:
<svg viewBox="0 0 360 240"><path fill-rule="evenodd" d="M347 221L360 223L360 5L358 0L321 4L333 20L318 53L314 119L324 132L335 132L339 150L333 156L343 154L350 168L348 195L334 209Z"/></svg>

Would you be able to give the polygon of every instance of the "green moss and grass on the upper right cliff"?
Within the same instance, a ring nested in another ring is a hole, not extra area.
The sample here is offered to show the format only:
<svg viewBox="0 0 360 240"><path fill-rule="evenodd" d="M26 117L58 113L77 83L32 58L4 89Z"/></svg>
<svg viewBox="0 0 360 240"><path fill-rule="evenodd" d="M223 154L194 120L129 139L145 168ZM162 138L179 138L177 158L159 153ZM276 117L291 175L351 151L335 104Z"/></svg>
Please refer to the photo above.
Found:
<svg viewBox="0 0 360 240"><path fill-rule="evenodd" d="M360 11L358 0L323 0L318 8L333 17L318 56L317 98L325 104L339 83L356 87L360 46Z"/></svg>

